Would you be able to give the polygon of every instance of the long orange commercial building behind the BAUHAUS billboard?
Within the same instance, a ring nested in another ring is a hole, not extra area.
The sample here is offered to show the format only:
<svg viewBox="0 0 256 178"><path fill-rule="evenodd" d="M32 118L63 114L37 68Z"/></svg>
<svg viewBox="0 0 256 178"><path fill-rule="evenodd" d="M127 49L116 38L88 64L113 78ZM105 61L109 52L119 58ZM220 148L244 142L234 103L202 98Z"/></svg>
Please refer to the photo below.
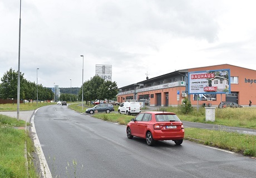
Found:
<svg viewBox="0 0 256 178"><path fill-rule="evenodd" d="M224 72L223 72L224 71ZM226 72L228 71L228 72ZM196 86L194 76L203 77L203 84ZM218 74L218 75L216 75ZM226 77L227 76L227 77ZM206 80L207 78L207 80ZM195 88L204 88L196 92ZM145 101L149 106L178 106L188 97L193 106L218 107L221 101L232 101L242 106L256 102L256 71L233 65L216 65L178 70L165 75L119 88L117 101Z"/></svg>

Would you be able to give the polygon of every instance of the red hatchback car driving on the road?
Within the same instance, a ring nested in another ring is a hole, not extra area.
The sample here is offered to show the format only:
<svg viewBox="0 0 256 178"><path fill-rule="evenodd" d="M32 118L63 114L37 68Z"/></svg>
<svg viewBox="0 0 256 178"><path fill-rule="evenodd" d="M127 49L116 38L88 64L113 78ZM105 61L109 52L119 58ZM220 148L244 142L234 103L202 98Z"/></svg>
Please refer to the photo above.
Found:
<svg viewBox="0 0 256 178"><path fill-rule="evenodd" d="M184 139L184 126L173 112L141 112L126 126L128 139L134 136L146 139L147 145L154 145L156 140L173 140L180 145Z"/></svg>

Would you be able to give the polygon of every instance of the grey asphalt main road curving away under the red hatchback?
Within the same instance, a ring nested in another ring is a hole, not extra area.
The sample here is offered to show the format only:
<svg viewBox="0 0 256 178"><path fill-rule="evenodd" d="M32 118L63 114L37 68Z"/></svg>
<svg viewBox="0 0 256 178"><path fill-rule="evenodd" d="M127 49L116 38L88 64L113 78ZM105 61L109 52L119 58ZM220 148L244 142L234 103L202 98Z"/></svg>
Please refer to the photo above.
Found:
<svg viewBox="0 0 256 178"><path fill-rule="evenodd" d="M249 157L186 140L180 146L160 141L150 147L144 139L127 139L125 126L82 115L67 106L37 110L35 128L53 177L256 175L256 160Z"/></svg>

